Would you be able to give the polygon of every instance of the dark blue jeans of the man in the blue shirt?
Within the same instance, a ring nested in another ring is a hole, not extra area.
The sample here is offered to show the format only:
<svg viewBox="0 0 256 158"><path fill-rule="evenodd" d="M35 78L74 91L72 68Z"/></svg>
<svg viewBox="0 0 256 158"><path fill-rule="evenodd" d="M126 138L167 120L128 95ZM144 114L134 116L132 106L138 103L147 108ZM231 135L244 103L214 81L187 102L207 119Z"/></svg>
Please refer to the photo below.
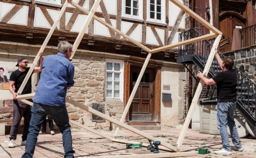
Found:
<svg viewBox="0 0 256 158"><path fill-rule="evenodd" d="M70 131L69 116L65 106L50 106L44 104L33 103L31 108L31 120L29 134L27 135L25 153L22 157L32 157L35 151L35 144L39 134L41 125L45 117L52 117L55 124L62 133L62 141L64 147L64 157L74 157L75 153L72 149L72 136Z"/></svg>

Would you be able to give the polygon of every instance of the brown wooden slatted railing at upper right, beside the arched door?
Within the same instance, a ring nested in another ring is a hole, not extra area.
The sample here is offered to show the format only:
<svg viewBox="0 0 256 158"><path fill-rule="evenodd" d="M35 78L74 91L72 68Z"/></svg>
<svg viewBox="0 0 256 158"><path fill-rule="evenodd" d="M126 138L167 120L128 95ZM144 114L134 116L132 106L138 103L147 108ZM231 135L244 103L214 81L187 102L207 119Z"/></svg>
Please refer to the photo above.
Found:
<svg viewBox="0 0 256 158"><path fill-rule="evenodd" d="M242 35L241 48L256 44L256 24L240 29Z"/></svg>

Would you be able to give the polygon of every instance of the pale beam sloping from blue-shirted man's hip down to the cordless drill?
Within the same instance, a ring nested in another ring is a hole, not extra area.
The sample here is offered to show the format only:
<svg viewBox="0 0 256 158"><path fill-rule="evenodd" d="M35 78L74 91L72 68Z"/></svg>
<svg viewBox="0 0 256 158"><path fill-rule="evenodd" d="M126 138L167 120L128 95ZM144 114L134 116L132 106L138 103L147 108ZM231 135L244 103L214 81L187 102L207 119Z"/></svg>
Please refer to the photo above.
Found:
<svg viewBox="0 0 256 158"><path fill-rule="evenodd" d="M125 129L127 129L127 130L129 130L131 132L134 132L134 133L136 133L136 134L138 134L140 136L143 136L146 139L149 139L149 140L152 140L152 141L161 141L161 140L159 140L159 138L155 138L155 137L153 137L153 136L151 136L149 134L146 134L146 133L144 133L142 131L139 131L139 130L135 129L134 127L131 127L131 126L125 124L125 123L122 123L122 122L116 120L115 118L110 117L109 115L106 115L106 114L103 114L103 113L101 113L101 112L99 112L97 110L94 110L93 108L91 108L91 107L89 107L87 105L83 105L82 103L79 103L79 102L73 100L70 97L66 97L66 102L68 102L68 103L70 103L70 104L72 104L72 105L74 105L76 107L82 108L83 110L88 111L88 112L90 112L90 113L92 113L94 115L97 115L97 116L101 117L101 118L104 118L105 120L108 120L108 121L110 121L112 123L115 123L118 126L124 127ZM167 147L168 149L173 150L175 152L179 152L179 149L177 150L174 146L172 146L169 143L166 143L164 141L161 141L161 145L163 145L163 146Z"/></svg>

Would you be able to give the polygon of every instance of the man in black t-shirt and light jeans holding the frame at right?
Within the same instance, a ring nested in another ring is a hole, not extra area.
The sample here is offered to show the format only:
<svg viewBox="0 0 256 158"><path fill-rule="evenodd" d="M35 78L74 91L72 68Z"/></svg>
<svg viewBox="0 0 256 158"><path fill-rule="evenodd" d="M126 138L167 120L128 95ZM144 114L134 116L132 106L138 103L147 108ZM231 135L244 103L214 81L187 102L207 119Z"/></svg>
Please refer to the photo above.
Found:
<svg viewBox="0 0 256 158"><path fill-rule="evenodd" d="M240 137L234 122L234 110L236 105L236 71L233 69L234 61L230 57L224 57L221 60L217 50L215 50L215 58L222 69L213 78L206 78L201 72L197 73L197 77L201 78L206 85L217 85L217 127L221 134L222 149L215 151L215 154L230 155L231 146L229 143L229 134L227 133L227 125L230 129L232 142L236 150L243 151Z"/></svg>

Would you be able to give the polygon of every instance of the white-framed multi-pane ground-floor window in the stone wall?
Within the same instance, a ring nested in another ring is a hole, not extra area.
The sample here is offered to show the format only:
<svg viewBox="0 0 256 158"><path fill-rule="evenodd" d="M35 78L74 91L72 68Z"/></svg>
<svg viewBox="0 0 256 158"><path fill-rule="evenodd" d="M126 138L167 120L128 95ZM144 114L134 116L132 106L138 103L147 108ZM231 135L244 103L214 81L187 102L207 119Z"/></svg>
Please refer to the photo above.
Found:
<svg viewBox="0 0 256 158"><path fill-rule="evenodd" d="M106 59L106 100L122 101L124 87L124 62Z"/></svg>

